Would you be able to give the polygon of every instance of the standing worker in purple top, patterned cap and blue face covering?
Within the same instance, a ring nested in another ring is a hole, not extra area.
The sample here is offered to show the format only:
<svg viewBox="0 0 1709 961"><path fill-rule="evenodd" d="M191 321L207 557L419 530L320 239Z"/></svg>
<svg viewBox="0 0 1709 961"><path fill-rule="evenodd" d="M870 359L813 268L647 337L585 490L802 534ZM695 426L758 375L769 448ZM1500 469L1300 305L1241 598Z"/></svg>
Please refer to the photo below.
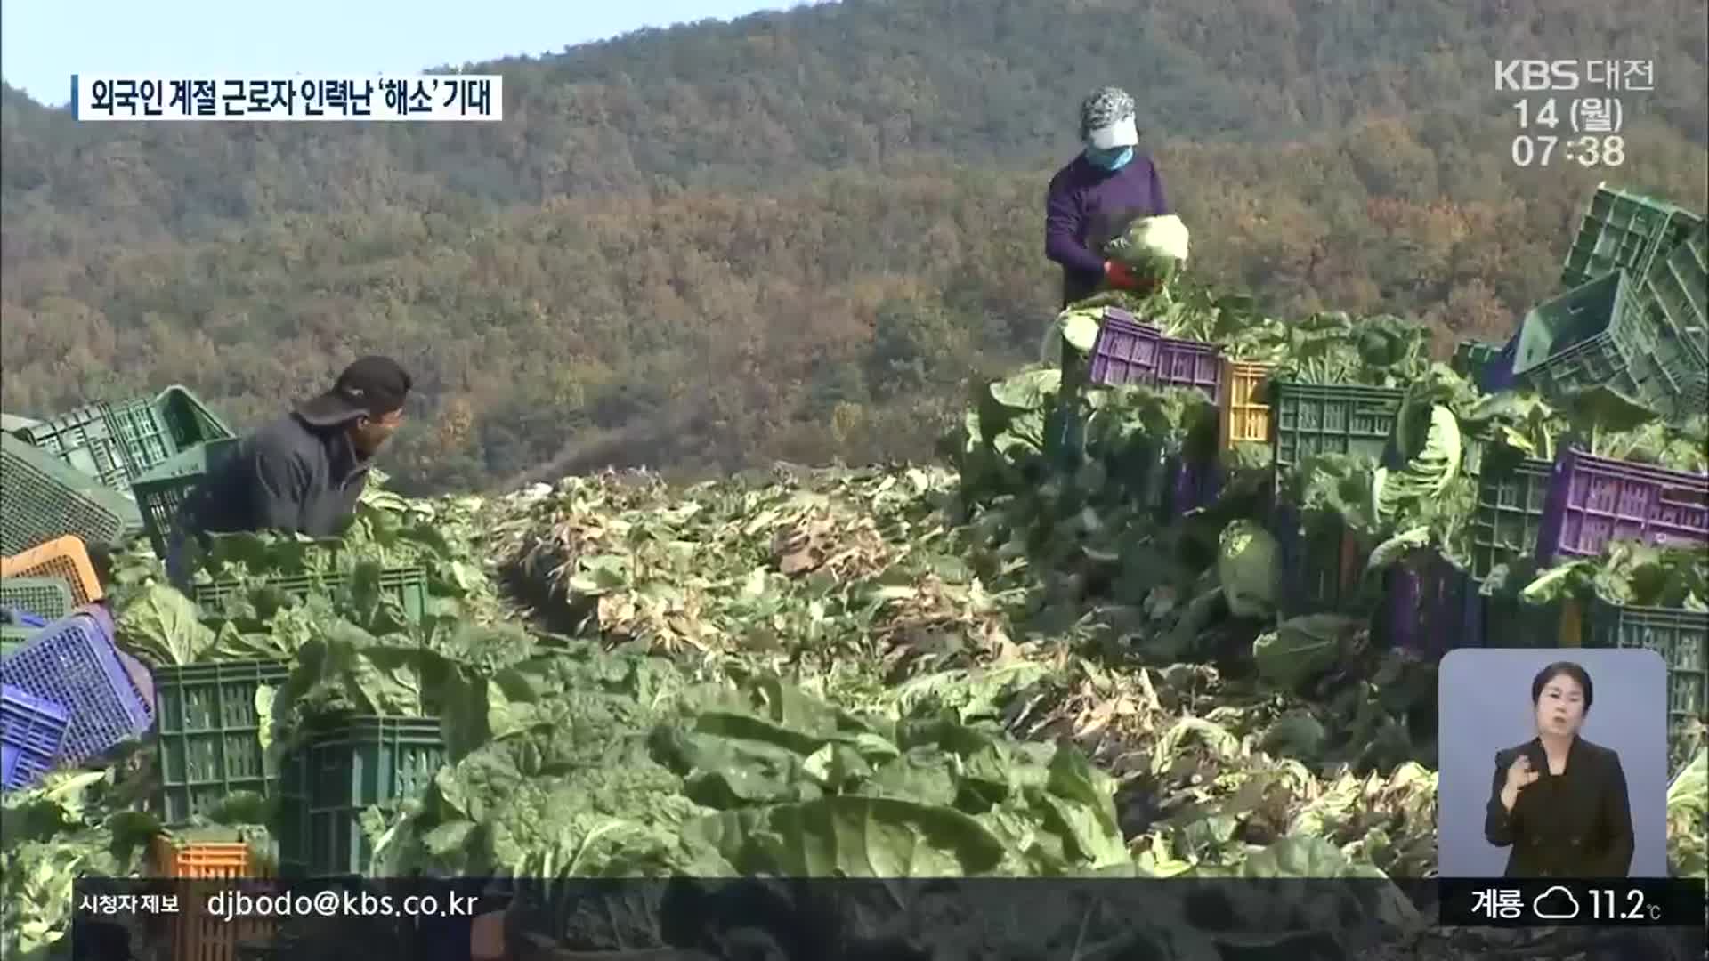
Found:
<svg viewBox="0 0 1709 961"><path fill-rule="evenodd" d="M1140 130L1133 97L1104 87L1080 104L1085 150L1051 178L1044 205L1044 255L1063 267L1063 308L1107 282L1140 289L1123 265L1106 260L1104 243L1140 217L1169 212L1164 183L1150 157L1136 152Z"/></svg>

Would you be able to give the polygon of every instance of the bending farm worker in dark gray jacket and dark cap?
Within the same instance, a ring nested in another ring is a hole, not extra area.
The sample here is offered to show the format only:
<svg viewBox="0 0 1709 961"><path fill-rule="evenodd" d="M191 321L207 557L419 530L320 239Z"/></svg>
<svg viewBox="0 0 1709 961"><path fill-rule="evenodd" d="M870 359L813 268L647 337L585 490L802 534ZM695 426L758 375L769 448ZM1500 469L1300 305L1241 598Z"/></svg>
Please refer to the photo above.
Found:
<svg viewBox="0 0 1709 961"><path fill-rule="evenodd" d="M277 530L332 537L355 515L367 467L403 421L410 374L390 357L362 357L332 390L236 445L179 508L166 557L173 583L190 583L200 534Z"/></svg>

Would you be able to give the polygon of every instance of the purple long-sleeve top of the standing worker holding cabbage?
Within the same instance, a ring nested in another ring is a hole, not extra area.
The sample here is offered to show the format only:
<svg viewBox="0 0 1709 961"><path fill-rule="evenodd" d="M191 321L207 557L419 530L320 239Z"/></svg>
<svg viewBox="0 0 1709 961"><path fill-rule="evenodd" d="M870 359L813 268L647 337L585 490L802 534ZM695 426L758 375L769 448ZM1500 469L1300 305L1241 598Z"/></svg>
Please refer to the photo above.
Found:
<svg viewBox="0 0 1709 961"><path fill-rule="evenodd" d="M1164 181L1145 154L1135 154L1118 171L1080 154L1056 171L1044 202L1044 256L1063 267L1063 303L1090 296L1104 279L1104 256L1089 246L1094 234L1167 212Z"/></svg>

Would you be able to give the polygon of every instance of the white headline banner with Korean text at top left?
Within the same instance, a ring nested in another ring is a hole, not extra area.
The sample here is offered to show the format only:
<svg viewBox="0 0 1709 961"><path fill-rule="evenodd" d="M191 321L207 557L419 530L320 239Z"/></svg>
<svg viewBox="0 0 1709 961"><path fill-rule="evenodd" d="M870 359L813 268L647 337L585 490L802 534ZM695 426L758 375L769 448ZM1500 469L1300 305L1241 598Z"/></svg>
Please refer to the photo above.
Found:
<svg viewBox="0 0 1709 961"><path fill-rule="evenodd" d="M72 74L80 121L497 121L504 77L126 77Z"/></svg>

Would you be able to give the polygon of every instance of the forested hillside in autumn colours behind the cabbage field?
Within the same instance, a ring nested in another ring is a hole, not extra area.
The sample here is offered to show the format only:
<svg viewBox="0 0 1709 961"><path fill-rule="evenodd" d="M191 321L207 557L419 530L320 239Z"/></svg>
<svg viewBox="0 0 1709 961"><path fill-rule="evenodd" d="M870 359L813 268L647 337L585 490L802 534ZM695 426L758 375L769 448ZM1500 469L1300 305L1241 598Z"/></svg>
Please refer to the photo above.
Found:
<svg viewBox="0 0 1709 961"><path fill-rule="evenodd" d="M502 125L85 125L0 91L10 412L185 383L239 424L405 359L400 480L921 457L1054 313L1042 190L1136 92L1191 270L1507 330L1598 180L1706 207L1700 2L844 2L506 77ZM1494 60L1647 58L1627 162L1518 169Z"/></svg>

